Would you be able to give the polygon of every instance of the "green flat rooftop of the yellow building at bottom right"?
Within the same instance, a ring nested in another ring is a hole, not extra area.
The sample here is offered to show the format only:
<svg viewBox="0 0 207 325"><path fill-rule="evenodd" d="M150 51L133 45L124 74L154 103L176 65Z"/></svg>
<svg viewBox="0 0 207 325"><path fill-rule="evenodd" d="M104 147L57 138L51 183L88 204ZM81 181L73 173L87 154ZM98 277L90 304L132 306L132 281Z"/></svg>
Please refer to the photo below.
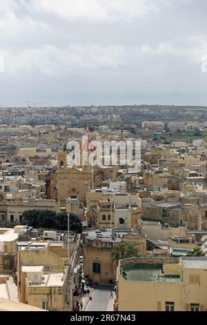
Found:
<svg viewBox="0 0 207 325"><path fill-rule="evenodd" d="M123 274L123 272L125 273ZM181 282L179 276L166 276L161 264L135 264L133 266L123 266L122 275L126 275L128 281Z"/></svg>

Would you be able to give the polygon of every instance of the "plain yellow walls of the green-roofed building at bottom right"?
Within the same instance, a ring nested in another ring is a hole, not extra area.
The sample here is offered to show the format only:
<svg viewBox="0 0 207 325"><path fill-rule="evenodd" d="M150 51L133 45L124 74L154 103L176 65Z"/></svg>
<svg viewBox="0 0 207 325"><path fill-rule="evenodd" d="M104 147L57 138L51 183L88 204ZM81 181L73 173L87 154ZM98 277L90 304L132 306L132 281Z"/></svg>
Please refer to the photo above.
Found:
<svg viewBox="0 0 207 325"><path fill-rule="evenodd" d="M119 275L120 311L165 311L166 301L175 302L175 311L188 311L190 304L207 309L206 270L183 269L178 264L166 264L166 275L181 275L181 282L127 281Z"/></svg>

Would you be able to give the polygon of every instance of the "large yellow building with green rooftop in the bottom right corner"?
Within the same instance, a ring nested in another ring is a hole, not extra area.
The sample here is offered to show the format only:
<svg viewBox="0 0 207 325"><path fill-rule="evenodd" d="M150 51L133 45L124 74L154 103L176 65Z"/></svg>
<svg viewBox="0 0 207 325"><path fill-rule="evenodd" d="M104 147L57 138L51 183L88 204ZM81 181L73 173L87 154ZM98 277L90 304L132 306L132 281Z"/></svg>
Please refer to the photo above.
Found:
<svg viewBox="0 0 207 325"><path fill-rule="evenodd" d="M132 258L119 261L119 311L204 311L207 257Z"/></svg>

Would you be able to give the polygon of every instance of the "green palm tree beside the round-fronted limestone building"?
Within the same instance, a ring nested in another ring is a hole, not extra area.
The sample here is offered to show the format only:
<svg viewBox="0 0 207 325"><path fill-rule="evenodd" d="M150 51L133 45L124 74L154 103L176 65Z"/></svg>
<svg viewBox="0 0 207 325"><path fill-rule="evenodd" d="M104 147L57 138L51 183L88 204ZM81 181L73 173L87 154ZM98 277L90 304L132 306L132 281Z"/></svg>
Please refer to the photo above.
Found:
<svg viewBox="0 0 207 325"><path fill-rule="evenodd" d="M119 259L128 259L137 255L137 248L131 243L119 243L112 250L112 259L118 264Z"/></svg>

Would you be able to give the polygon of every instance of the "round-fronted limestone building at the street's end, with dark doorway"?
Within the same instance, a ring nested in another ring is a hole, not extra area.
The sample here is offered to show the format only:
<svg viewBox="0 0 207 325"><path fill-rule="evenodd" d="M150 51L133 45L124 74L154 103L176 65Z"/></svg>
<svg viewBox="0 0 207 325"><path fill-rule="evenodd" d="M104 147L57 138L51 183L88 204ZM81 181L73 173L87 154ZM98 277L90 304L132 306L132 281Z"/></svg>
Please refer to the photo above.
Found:
<svg viewBox="0 0 207 325"><path fill-rule="evenodd" d="M146 256L146 236L131 229L92 230L83 235L83 273L99 284L109 284L117 276L117 263L112 260L112 250L119 243L132 243L139 256Z"/></svg>

